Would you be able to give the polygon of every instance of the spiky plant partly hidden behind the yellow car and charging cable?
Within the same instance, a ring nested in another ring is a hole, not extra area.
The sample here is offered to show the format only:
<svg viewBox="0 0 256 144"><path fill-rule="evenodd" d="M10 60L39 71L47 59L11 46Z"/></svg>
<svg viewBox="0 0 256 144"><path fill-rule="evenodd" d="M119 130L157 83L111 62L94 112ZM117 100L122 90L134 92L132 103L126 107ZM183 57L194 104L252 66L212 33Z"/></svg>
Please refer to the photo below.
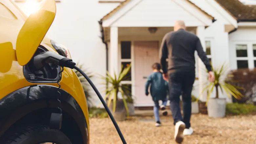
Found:
<svg viewBox="0 0 256 144"><path fill-rule="evenodd" d="M83 67L82 64L80 64L79 62L76 64L77 67L79 67L83 72L85 72L87 74L87 76L91 79L93 77L92 73L87 72L87 70ZM90 87L91 85L89 84L89 82L84 78L84 76L79 73L77 70L74 70L75 74L77 75L79 81L81 82L82 86L83 86L83 90L84 90L84 94L86 97L86 101L87 101L87 106L88 108L93 106L93 99L92 99L92 95L90 93Z"/></svg>

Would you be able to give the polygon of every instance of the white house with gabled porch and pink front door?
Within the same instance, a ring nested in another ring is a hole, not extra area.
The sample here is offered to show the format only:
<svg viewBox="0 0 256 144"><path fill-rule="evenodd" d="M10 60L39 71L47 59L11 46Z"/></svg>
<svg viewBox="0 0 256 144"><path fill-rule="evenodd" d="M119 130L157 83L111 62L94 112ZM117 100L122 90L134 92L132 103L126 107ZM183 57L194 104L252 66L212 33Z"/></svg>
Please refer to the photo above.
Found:
<svg viewBox="0 0 256 144"><path fill-rule="evenodd" d="M28 14L32 10L29 0L14 1ZM151 65L159 62L161 40L176 20L185 21L187 30L200 38L214 67L224 62L230 69L255 67L255 1L56 0L57 13L48 37L68 47L75 62L101 75L106 70L117 73L121 64L131 63L131 80L123 84L131 87L136 106L153 106L151 98L145 97L144 84ZM197 59L195 96L206 78L203 68ZM102 87L99 83L104 81L94 82Z"/></svg>

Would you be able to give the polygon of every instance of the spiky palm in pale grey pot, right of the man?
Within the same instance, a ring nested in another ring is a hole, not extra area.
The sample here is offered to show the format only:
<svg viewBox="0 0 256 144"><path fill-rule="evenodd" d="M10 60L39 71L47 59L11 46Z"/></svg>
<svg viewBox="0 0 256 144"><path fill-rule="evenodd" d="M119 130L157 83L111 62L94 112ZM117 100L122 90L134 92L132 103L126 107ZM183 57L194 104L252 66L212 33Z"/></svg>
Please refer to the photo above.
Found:
<svg viewBox="0 0 256 144"><path fill-rule="evenodd" d="M224 117L226 112L226 99L219 98L219 91L221 90L222 93L225 92L227 96L230 98L232 95L236 99L240 99L241 97L243 97L243 95L238 91L238 89L243 89L243 88L226 83L225 76L226 76L227 66L225 64L222 64L221 67L217 69L212 68L212 70L215 76L215 81L214 82L207 81L206 86L203 88L203 91L201 92L200 96L202 95L203 92L205 91L207 92L206 105L207 105L208 116L219 118L219 117ZM216 96L215 98L210 98L214 89L216 90Z"/></svg>

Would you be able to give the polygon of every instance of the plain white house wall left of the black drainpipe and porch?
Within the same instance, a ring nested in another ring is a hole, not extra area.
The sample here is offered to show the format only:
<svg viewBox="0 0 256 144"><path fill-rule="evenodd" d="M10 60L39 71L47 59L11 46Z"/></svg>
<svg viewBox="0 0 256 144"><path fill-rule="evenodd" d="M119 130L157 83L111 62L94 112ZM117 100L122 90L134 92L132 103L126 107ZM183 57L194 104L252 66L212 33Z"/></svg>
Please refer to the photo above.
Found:
<svg viewBox="0 0 256 144"><path fill-rule="evenodd" d="M21 9L26 3L16 3ZM56 17L47 36L65 45L74 62L84 64L94 74L106 73L106 50L100 39L98 21L118 3L103 4L98 0L60 0L56 3ZM101 79L93 79L96 87L102 88ZM102 91L102 89L100 89ZM99 99L92 90L96 103ZM104 97L104 92L101 93Z"/></svg>

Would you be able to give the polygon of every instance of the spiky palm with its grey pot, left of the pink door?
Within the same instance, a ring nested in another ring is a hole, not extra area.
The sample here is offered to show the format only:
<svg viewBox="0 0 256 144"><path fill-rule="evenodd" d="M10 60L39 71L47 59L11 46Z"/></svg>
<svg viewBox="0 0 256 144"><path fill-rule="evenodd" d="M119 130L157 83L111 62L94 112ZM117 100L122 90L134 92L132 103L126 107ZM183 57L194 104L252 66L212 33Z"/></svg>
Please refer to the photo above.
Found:
<svg viewBox="0 0 256 144"><path fill-rule="evenodd" d="M131 100L130 89L127 85L122 84L121 81L126 81L128 79L128 72L131 68L131 64L120 71L119 75L114 73L114 76L107 72L106 76L101 76L108 83L106 89L106 96L104 99L107 100L108 107L115 117L116 120L122 121L129 117L129 109L127 105L127 100ZM118 95L121 98L118 98Z"/></svg>

